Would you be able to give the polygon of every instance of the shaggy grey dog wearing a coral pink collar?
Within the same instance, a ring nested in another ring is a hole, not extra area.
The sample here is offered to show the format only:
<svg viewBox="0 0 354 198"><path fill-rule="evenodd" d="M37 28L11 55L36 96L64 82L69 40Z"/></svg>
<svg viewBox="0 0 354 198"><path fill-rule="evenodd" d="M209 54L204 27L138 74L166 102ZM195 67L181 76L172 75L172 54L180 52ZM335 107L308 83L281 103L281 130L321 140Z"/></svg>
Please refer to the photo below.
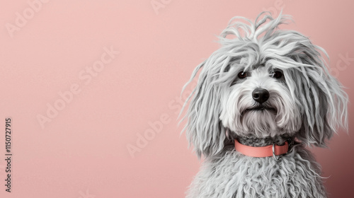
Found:
<svg viewBox="0 0 354 198"><path fill-rule="evenodd" d="M291 21L267 12L254 22L232 18L221 47L185 84L198 79L183 105L183 132L204 156L186 197L328 196L306 147L326 147L348 129L348 95L321 47L279 28Z"/></svg>

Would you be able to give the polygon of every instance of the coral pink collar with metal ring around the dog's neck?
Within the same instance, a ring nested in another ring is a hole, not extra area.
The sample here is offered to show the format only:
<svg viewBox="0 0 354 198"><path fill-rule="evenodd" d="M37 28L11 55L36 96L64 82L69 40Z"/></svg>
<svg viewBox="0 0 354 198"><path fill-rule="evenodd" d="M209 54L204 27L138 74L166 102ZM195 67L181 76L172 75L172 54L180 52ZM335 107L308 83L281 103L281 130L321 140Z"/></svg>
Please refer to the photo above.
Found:
<svg viewBox="0 0 354 198"><path fill-rule="evenodd" d="M235 148L236 151L244 154L245 156L251 156L256 158L264 158L273 156L275 159L279 159L280 156L287 153L289 150L289 143L285 141L284 145L279 146L278 144L268 145L268 146L246 146L244 144L239 143L235 139Z"/></svg>

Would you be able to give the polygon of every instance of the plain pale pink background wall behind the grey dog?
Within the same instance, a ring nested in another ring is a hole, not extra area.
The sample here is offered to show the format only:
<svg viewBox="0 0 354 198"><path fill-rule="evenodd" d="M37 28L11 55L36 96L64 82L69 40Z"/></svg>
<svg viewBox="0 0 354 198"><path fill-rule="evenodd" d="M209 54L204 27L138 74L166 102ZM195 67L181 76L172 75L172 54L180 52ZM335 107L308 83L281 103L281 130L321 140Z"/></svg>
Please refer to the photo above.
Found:
<svg viewBox="0 0 354 198"><path fill-rule="evenodd" d="M34 0L30 0L34 1ZM156 0L161 2L160 0ZM145 1L49 1L10 36L6 23L30 8L27 0L0 2L0 197L183 197L200 163L188 150L176 111L183 84L218 45L232 16L256 18L269 9L294 17L299 30L324 47L331 67L354 100L354 1L168 1L157 12ZM101 59L120 54L89 84L79 79ZM37 115L59 91L79 84L52 122ZM331 197L353 197L353 105L349 134L329 149L315 148ZM161 132L130 156L127 145L169 116ZM4 187L4 120L13 118L12 192Z"/></svg>

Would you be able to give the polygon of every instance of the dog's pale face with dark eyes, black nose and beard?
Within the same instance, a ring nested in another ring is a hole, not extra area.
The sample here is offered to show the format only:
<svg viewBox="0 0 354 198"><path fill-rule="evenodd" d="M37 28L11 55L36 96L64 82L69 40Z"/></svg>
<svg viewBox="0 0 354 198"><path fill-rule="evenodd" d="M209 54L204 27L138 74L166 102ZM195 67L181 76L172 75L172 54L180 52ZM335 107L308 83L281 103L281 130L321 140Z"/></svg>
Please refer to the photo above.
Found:
<svg viewBox="0 0 354 198"><path fill-rule="evenodd" d="M220 97L219 119L224 127L239 136L260 138L299 131L301 105L287 86L292 79L286 69L265 62L245 70L235 63L227 72L235 75Z"/></svg>

